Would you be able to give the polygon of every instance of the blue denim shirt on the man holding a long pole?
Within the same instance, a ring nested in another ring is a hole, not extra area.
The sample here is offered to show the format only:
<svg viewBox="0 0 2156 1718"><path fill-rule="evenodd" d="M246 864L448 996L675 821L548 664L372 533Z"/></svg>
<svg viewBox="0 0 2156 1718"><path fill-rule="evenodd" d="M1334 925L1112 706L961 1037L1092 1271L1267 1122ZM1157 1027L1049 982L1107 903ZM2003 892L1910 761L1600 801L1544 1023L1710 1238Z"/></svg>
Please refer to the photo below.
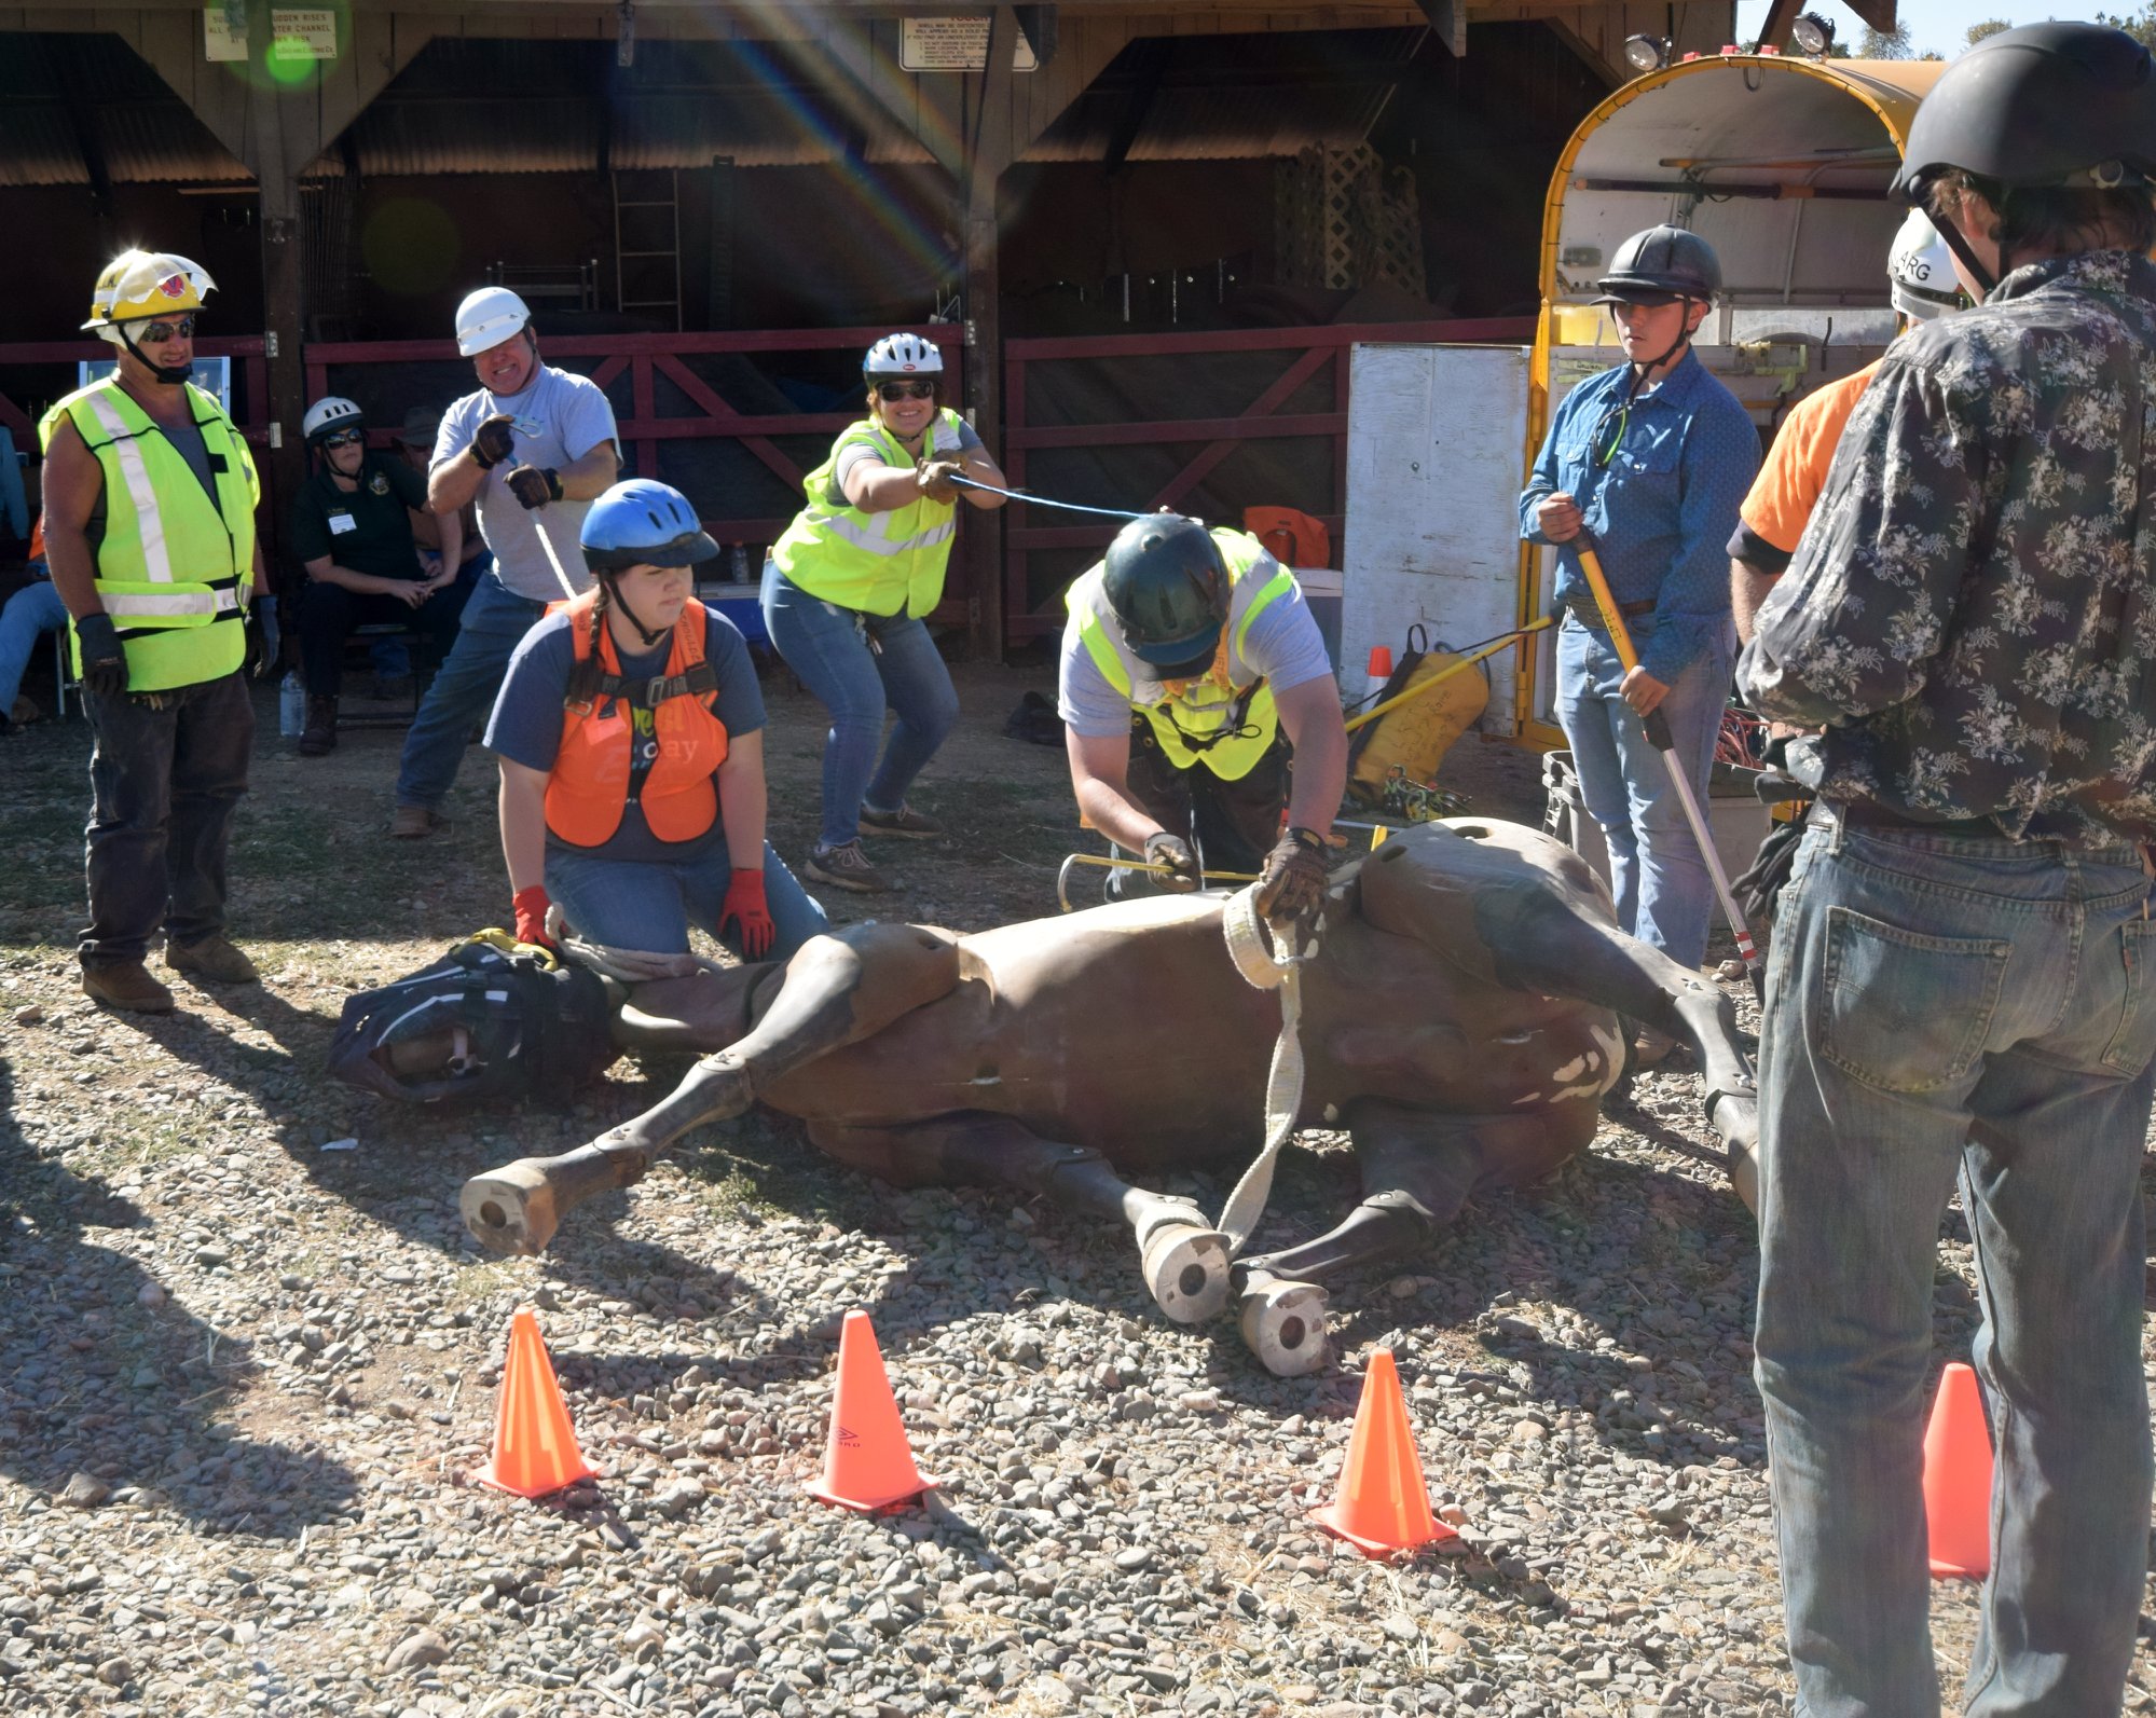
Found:
<svg viewBox="0 0 2156 1718"><path fill-rule="evenodd" d="M1630 379L1632 366L1619 364L1565 394L1520 491L1520 537L1548 543L1535 509L1570 494L1600 548L1611 595L1654 601L1651 621L1639 627L1639 664L1669 685L1701 653L1729 649L1723 545L1759 472L1759 431L1695 351L1623 412ZM1591 604L1567 543L1557 550L1557 599L1572 597Z"/></svg>

